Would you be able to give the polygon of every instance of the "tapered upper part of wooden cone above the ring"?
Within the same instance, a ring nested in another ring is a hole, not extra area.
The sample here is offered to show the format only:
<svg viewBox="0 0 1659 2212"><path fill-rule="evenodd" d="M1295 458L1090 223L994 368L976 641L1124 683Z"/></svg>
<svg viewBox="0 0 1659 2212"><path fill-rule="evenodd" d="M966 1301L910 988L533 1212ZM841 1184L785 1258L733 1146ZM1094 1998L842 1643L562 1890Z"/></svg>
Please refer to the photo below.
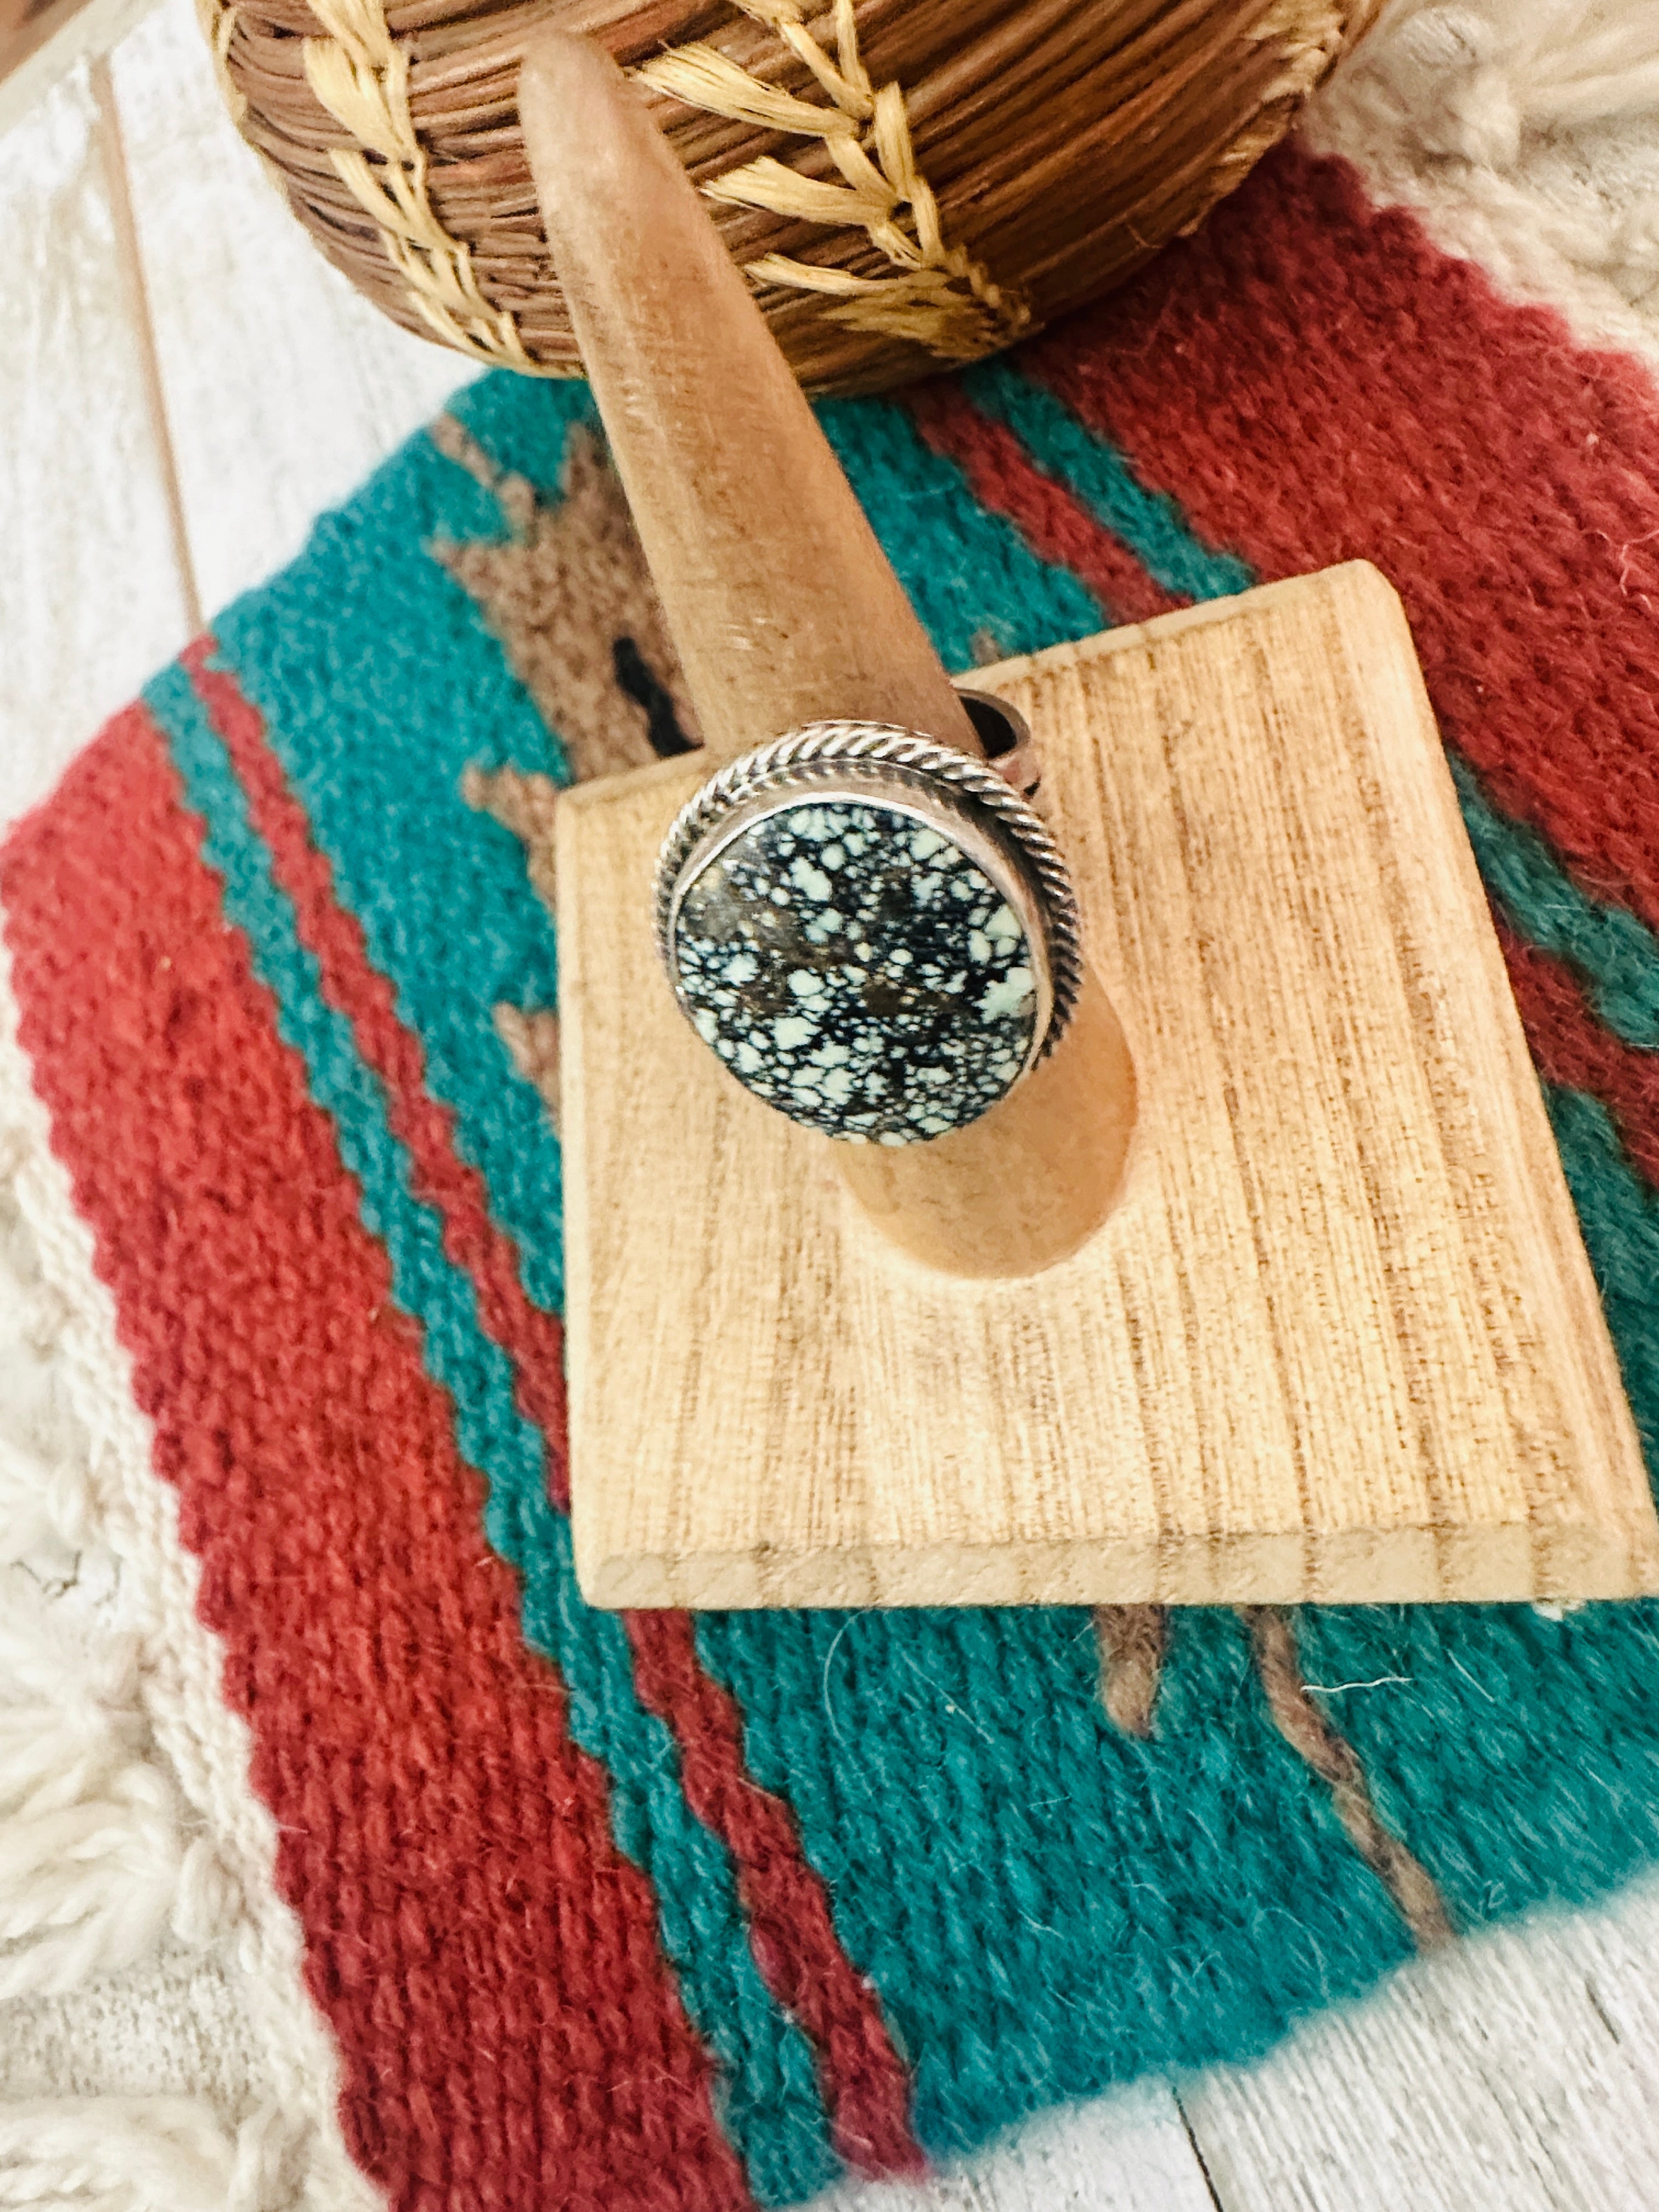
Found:
<svg viewBox="0 0 1659 2212"><path fill-rule="evenodd" d="M524 62L520 108L706 768L823 717L891 721L978 757L916 608L641 88L602 46L546 31Z"/></svg>

